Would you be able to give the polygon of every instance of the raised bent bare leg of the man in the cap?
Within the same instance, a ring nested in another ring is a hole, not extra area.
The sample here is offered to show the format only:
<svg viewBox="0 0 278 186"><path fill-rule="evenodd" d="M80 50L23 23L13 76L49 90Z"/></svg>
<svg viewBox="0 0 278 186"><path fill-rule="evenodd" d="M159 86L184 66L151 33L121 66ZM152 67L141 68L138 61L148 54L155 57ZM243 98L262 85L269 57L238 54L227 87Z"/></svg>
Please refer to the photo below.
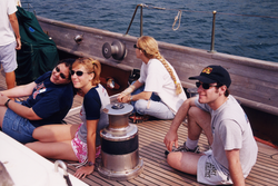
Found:
<svg viewBox="0 0 278 186"><path fill-rule="evenodd" d="M198 107L191 107L188 111L188 138L191 140L198 140L203 130L209 145L211 145L214 136L210 121L211 117L209 112L203 111Z"/></svg>

